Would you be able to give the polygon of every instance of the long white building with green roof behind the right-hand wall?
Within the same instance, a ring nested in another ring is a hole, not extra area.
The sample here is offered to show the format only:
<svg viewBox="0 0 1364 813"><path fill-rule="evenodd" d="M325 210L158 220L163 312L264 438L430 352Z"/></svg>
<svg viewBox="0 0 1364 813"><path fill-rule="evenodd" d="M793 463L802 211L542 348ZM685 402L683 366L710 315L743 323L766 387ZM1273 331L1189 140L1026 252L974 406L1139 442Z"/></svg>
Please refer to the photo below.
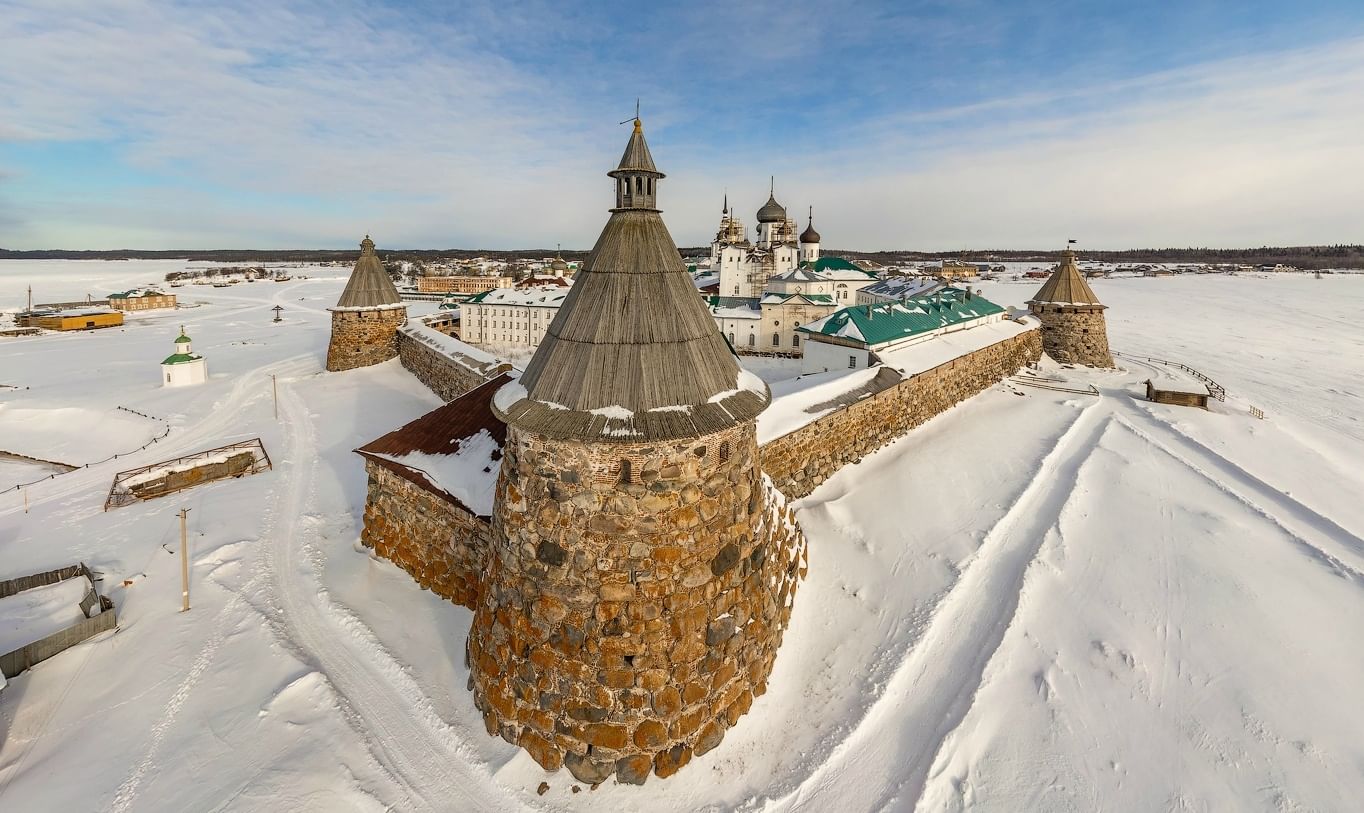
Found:
<svg viewBox="0 0 1364 813"><path fill-rule="evenodd" d="M930 296L842 308L797 333L805 337L805 372L821 372L869 367L883 353L1007 315L1005 308L968 288L944 288Z"/></svg>

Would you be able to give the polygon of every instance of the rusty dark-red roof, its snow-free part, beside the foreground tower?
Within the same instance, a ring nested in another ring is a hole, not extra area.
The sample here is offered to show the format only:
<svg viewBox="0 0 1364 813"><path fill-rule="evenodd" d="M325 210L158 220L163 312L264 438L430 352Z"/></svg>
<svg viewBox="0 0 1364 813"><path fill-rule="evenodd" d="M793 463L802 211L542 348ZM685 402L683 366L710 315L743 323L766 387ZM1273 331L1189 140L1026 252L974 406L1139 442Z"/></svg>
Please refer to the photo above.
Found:
<svg viewBox="0 0 1364 813"><path fill-rule="evenodd" d="M512 376L505 372L491 378L445 406L438 406L421 417L370 441L356 449L356 453L361 454L366 460L372 460L413 486L430 491L472 516L477 516L477 512L469 509L469 506L464 505L454 495L432 483L424 472L390 458L402 457L413 452L424 454L456 454L462 445L460 441L472 438L481 431L492 435L492 439L501 449L506 443L507 424L492 413L491 405L492 396L509 381L512 381Z"/></svg>

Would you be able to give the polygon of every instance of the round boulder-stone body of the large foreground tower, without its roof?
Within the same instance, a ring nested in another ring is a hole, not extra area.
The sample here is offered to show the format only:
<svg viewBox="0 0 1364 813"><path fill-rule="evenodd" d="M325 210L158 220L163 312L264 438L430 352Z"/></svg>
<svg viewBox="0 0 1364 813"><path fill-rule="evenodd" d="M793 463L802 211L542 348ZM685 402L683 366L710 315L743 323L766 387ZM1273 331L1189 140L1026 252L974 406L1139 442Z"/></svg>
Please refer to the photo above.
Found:
<svg viewBox="0 0 1364 813"><path fill-rule="evenodd" d="M584 783L670 776L767 690L806 550L754 427L651 445L509 428L468 656L490 734Z"/></svg>

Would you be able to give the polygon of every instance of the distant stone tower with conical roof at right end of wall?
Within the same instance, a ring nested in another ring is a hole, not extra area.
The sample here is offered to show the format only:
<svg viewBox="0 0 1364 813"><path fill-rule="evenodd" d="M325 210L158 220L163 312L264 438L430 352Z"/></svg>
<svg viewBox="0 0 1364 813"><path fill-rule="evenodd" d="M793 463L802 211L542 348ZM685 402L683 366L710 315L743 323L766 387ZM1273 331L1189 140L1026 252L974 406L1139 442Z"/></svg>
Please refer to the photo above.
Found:
<svg viewBox="0 0 1364 813"><path fill-rule="evenodd" d="M1027 306L1042 321L1042 351L1048 356L1064 364L1113 366L1103 323L1108 306L1099 303L1080 276L1073 251L1061 252L1061 265Z"/></svg>

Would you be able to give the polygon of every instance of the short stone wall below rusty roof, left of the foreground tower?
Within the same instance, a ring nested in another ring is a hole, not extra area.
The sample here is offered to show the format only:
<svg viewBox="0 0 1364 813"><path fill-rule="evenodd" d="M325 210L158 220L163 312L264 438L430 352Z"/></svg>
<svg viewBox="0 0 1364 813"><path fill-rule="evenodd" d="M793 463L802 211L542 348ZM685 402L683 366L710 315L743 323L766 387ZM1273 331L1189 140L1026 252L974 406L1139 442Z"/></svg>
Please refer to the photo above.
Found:
<svg viewBox="0 0 1364 813"><path fill-rule="evenodd" d="M370 495L360 542L423 588L473 607L491 527L442 497L366 458Z"/></svg>

